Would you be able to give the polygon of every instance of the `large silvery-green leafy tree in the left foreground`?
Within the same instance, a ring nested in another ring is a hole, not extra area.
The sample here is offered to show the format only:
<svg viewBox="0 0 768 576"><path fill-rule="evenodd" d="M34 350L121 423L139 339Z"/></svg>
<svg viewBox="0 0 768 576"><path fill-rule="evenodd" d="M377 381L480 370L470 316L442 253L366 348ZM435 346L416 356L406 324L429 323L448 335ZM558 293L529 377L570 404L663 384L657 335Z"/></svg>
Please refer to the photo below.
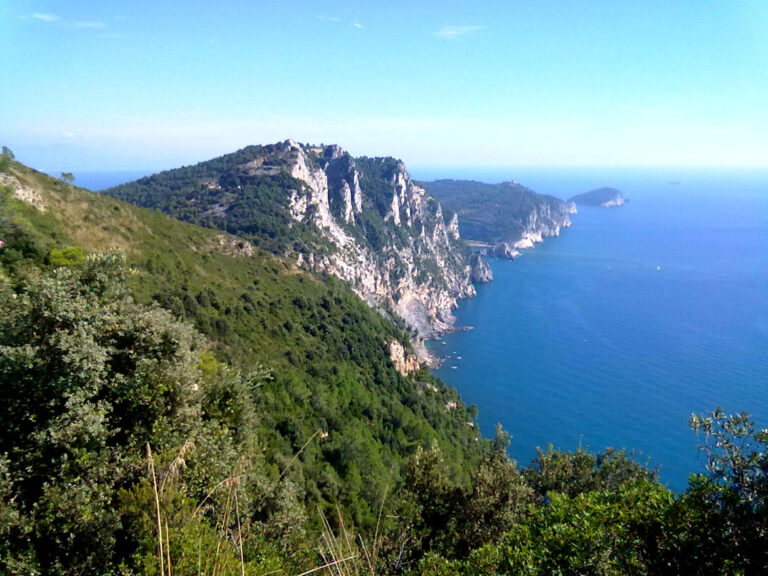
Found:
<svg viewBox="0 0 768 576"><path fill-rule="evenodd" d="M104 573L144 443L179 445L199 422L199 336L134 304L123 275L108 254L0 295L0 471L28 519L5 540L26 571Z"/></svg>

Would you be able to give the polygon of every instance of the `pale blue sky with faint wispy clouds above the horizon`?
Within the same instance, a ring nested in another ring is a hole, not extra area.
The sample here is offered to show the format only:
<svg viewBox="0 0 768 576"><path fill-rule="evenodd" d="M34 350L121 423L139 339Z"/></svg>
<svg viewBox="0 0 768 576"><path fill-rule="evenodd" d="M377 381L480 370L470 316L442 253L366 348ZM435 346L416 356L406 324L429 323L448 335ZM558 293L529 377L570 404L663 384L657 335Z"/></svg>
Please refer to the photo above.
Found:
<svg viewBox="0 0 768 576"><path fill-rule="evenodd" d="M3 0L0 144L164 169L292 138L409 167L768 167L766 0Z"/></svg>

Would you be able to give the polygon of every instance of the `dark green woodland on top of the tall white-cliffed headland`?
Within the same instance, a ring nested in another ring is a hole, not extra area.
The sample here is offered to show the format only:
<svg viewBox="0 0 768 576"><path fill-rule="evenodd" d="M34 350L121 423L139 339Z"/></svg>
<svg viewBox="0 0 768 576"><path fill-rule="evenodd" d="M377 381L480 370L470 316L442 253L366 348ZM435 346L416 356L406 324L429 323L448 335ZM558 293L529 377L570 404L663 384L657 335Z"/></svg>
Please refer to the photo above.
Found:
<svg viewBox="0 0 768 576"><path fill-rule="evenodd" d="M395 225L386 216L392 208L390 180L398 170L394 158L355 158L344 153L340 161L328 159L312 148L305 151L312 167L323 167L331 176L354 167L364 190L362 211L354 223L342 223L361 245L378 251L386 245L407 245L411 230ZM308 253L332 249L311 224L291 218L288 199L305 184L287 168L298 151L282 145L248 146L232 154L192 166L167 170L104 193L137 206L153 208L178 220L218 228L254 242L274 254ZM254 163L258 167L254 167ZM329 194L330 210L339 218L338 190ZM416 231L417 233L419 230ZM460 249L466 247L459 243Z"/></svg>

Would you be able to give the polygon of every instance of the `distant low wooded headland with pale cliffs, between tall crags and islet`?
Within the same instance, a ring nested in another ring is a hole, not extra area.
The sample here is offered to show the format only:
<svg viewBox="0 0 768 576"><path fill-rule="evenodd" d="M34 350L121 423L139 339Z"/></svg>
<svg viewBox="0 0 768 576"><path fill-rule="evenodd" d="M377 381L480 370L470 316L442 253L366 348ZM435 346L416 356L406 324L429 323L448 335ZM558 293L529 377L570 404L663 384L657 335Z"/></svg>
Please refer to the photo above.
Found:
<svg viewBox="0 0 768 576"><path fill-rule="evenodd" d="M571 225L573 204L537 194L516 182L484 184L471 180L436 180L421 185L447 211L458 215L462 236L495 255L515 258L544 238Z"/></svg>

